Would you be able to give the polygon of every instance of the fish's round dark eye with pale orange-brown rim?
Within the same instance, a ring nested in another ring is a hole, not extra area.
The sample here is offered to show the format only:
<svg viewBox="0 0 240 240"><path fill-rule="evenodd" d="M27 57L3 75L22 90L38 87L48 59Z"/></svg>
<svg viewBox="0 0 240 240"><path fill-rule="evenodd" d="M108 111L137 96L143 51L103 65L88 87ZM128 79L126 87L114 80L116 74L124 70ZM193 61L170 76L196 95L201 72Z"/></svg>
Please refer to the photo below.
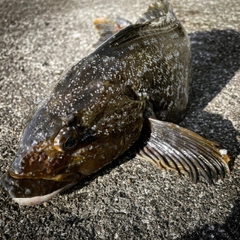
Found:
<svg viewBox="0 0 240 240"><path fill-rule="evenodd" d="M78 144L78 133L75 127L63 127L54 139L54 148L58 151L73 150Z"/></svg>

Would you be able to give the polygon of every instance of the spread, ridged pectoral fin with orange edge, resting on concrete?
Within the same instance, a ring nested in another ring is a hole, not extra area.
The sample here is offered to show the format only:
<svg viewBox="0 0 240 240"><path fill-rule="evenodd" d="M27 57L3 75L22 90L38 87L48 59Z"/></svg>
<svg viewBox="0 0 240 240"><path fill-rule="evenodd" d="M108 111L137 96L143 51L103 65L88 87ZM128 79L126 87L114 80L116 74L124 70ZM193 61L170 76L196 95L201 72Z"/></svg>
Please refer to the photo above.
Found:
<svg viewBox="0 0 240 240"><path fill-rule="evenodd" d="M205 178L212 183L229 173L228 155L200 135L176 124L149 119L151 135L137 154L160 169L188 175L196 183Z"/></svg>

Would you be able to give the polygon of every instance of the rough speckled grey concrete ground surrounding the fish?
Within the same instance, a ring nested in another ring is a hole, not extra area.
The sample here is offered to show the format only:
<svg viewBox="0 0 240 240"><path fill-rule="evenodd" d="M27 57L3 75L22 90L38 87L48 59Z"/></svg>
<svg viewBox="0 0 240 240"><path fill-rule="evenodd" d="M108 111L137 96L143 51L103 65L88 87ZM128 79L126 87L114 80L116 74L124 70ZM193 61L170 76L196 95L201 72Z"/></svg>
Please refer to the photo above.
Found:
<svg viewBox="0 0 240 240"><path fill-rule="evenodd" d="M135 21L151 0L0 0L0 177L38 102L97 41L92 20ZM115 161L40 206L0 192L0 239L240 239L239 0L172 0L193 51L181 123L228 149L231 176L192 184L136 159Z"/></svg>

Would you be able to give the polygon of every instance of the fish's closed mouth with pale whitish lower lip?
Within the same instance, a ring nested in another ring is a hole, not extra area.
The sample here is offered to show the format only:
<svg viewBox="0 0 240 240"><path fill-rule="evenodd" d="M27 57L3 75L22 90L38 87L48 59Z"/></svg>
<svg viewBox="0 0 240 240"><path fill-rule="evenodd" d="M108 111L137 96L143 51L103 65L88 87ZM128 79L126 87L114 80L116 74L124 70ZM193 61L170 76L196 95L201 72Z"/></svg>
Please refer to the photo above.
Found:
<svg viewBox="0 0 240 240"><path fill-rule="evenodd" d="M72 174L71 181L56 179L21 179L7 172L0 180L0 186L20 205L41 204L60 192L72 187L80 180L80 175Z"/></svg>

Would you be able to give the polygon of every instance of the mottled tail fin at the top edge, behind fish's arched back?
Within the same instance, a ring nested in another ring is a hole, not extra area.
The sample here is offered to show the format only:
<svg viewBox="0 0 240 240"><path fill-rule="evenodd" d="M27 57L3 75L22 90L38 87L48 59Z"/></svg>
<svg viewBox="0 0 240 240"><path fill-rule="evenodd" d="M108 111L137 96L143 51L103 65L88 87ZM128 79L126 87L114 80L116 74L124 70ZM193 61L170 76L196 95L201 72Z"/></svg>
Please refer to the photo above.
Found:
<svg viewBox="0 0 240 240"><path fill-rule="evenodd" d="M137 23L156 22L162 18L176 19L171 4L167 0L158 0L138 19Z"/></svg>

